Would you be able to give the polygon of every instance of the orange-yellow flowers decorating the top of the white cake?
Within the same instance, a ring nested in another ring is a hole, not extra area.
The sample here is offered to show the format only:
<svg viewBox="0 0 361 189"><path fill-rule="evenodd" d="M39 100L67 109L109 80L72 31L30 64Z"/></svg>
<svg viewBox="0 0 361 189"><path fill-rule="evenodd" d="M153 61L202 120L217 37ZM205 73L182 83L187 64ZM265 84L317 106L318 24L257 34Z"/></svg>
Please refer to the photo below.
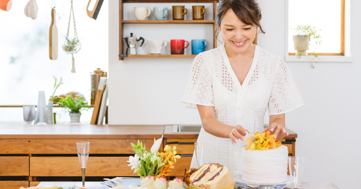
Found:
<svg viewBox="0 0 361 189"><path fill-rule="evenodd" d="M270 131L256 132L248 134L247 142L248 145L245 150L266 150L280 147L281 141L276 140L277 135L270 135Z"/></svg>

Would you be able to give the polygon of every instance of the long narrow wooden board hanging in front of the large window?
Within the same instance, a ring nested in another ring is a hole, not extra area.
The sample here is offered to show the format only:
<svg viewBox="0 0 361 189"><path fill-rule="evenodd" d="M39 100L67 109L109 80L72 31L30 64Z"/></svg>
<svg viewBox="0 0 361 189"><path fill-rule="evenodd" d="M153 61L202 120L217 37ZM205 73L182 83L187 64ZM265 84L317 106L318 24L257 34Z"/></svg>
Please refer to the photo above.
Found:
<svg viewBox="0 0 361 189"><path fill-rule="evenodd" d="M58 58L58 28L55 23L55 8L51 9L51 25L49 31L49 57L51 60Z"/></svg>

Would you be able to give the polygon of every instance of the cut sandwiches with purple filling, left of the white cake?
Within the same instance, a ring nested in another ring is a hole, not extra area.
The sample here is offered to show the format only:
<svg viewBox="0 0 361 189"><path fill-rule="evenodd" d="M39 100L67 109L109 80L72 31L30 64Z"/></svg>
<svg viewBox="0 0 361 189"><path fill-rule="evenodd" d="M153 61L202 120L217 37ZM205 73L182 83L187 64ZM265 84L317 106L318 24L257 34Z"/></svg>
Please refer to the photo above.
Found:
<svg viewBox="0 0 361 189"><path fill-rule="evenodd" d="M236 183L227 167L215 168L212 164L202 166L191 175L189 181L195 186L207 189L225 188Z"/></svg>

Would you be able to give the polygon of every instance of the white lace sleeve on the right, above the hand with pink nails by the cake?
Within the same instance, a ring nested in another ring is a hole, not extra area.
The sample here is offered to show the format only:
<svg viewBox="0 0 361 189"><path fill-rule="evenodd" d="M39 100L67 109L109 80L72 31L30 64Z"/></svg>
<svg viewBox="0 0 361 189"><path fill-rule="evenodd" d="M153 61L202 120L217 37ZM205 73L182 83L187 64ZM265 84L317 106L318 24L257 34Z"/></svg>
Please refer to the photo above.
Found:
<svg viewBox="0 0 361 189"><path fill-rule="evenodd" d="M281 58L278 58L277 61L278 64L268 102L270 116L291 112L305 105L288 66Z"/></svg>

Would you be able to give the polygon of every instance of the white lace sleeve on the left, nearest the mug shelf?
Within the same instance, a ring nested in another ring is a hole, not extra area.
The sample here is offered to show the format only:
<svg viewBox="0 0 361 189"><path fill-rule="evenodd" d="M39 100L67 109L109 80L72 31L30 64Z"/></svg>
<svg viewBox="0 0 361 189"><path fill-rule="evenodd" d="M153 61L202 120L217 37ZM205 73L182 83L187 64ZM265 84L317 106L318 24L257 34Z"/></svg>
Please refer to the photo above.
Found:
<svg viewBox="0 0 361 189"><path fill-rule="evenodd" d="M192 109L197 109L197 104L214 106L211 72L202 53L193 60L182 103Z"/></svg>

